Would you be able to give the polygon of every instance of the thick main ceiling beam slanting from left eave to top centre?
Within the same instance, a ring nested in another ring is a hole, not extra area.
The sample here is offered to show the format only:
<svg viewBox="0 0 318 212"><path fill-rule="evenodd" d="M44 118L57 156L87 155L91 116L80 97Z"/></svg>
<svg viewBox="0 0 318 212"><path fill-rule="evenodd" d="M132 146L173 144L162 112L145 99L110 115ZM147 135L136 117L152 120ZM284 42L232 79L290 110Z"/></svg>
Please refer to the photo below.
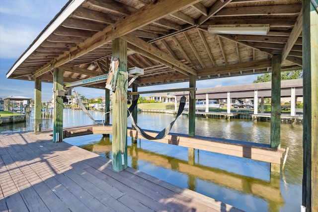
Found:
<svg viewBox="0 0 318 212"><path fill-rule="evenodd" d="M126 35L140 27L144 27L152 23L155 20L179 11L180 9L186 8L187 6L199 1L200 0L152 1L149 5L143 6L125 18L119 19L115 24L105 27L102 31L97 32L92 37L87 38L84 42L79 43L76 48L70 49L69 53L60 55L54 61L51 61L38 69L34 75L35 77L38 77L49 71L51 64L54 65L54 67L59 67L112 41L115 38Z"/></svg>

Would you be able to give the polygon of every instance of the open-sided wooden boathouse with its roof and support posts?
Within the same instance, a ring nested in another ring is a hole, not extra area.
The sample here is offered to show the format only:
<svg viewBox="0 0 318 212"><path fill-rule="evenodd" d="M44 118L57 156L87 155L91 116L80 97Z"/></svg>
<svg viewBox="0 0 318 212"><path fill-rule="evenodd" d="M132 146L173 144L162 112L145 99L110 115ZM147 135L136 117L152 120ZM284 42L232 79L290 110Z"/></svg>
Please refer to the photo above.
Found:
<svg viewBox="0 0 318 212"><path fill-rule="evenodd" d="M63 141L65 91L75 86L105 89L105 81L116 76L109 88L115 94L112 169L119 172L128 168L127 95L137 98L138 87L189 82L188 88L174 91L190 92L189 135L178 138L178 143L190 141L191 155L191 142L196 141L196 81L271 72L270 148L283 151L280 73L303 70L302 211L317 212L317 5L317 0L70 0L15 62L7 78L34 80L35 120L41 119L41 83L54 83L53 142L59 142ZM127 91L127 82L132 82L132 92ZM105 89L106 110L109 95ZM133 116L137 118L136 111ZM129 135L140 136L132 131ZM279 170L279 163L273 162L273 169Z"/></svg>

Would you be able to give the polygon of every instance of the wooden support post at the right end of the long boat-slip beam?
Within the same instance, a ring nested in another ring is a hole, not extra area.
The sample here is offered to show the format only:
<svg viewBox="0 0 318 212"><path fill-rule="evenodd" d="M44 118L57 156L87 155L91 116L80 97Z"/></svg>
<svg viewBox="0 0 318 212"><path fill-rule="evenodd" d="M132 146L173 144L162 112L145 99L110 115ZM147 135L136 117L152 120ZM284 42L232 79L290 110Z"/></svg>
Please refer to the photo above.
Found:
<svg viewBox="0 0 318 212"><path fill-rule="evenodd" d="M272 57L272 103L270 121L270 146L280 148L280 64L281 55Z"/></svg>

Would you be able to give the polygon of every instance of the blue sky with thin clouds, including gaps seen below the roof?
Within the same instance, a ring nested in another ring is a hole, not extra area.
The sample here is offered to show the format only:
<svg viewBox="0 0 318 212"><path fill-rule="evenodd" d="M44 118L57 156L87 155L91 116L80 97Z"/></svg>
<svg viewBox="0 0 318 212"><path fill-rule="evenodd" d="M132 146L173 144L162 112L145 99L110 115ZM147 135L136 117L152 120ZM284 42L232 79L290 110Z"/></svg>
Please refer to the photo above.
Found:
<svg viewBox="0 0 318 212"><path fill-rule="evenodd" d="M34 81L7 79L6 73L68 0L0 0L0 97L34 98ZM257 75L199 80L197 88L252 83ZM139 91L188 87L189 82L151 87ZM42 83L42 101L52 98L52 83ZM86 98L105 95L101 89L79 87Z"/></svg>

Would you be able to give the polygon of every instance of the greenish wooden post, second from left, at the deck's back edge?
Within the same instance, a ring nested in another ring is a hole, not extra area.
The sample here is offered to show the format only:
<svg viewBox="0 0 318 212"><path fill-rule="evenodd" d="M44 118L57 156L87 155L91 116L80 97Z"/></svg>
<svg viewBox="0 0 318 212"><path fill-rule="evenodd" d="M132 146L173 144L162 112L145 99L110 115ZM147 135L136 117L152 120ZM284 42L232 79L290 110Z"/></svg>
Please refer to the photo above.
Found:
<svg viewBox="0 0 318 212"><path fill-rule="evenodd" d="M54 69L54 116L53 142L63 141L63 98L58 91L63 90L63 69Z"/></svg>

